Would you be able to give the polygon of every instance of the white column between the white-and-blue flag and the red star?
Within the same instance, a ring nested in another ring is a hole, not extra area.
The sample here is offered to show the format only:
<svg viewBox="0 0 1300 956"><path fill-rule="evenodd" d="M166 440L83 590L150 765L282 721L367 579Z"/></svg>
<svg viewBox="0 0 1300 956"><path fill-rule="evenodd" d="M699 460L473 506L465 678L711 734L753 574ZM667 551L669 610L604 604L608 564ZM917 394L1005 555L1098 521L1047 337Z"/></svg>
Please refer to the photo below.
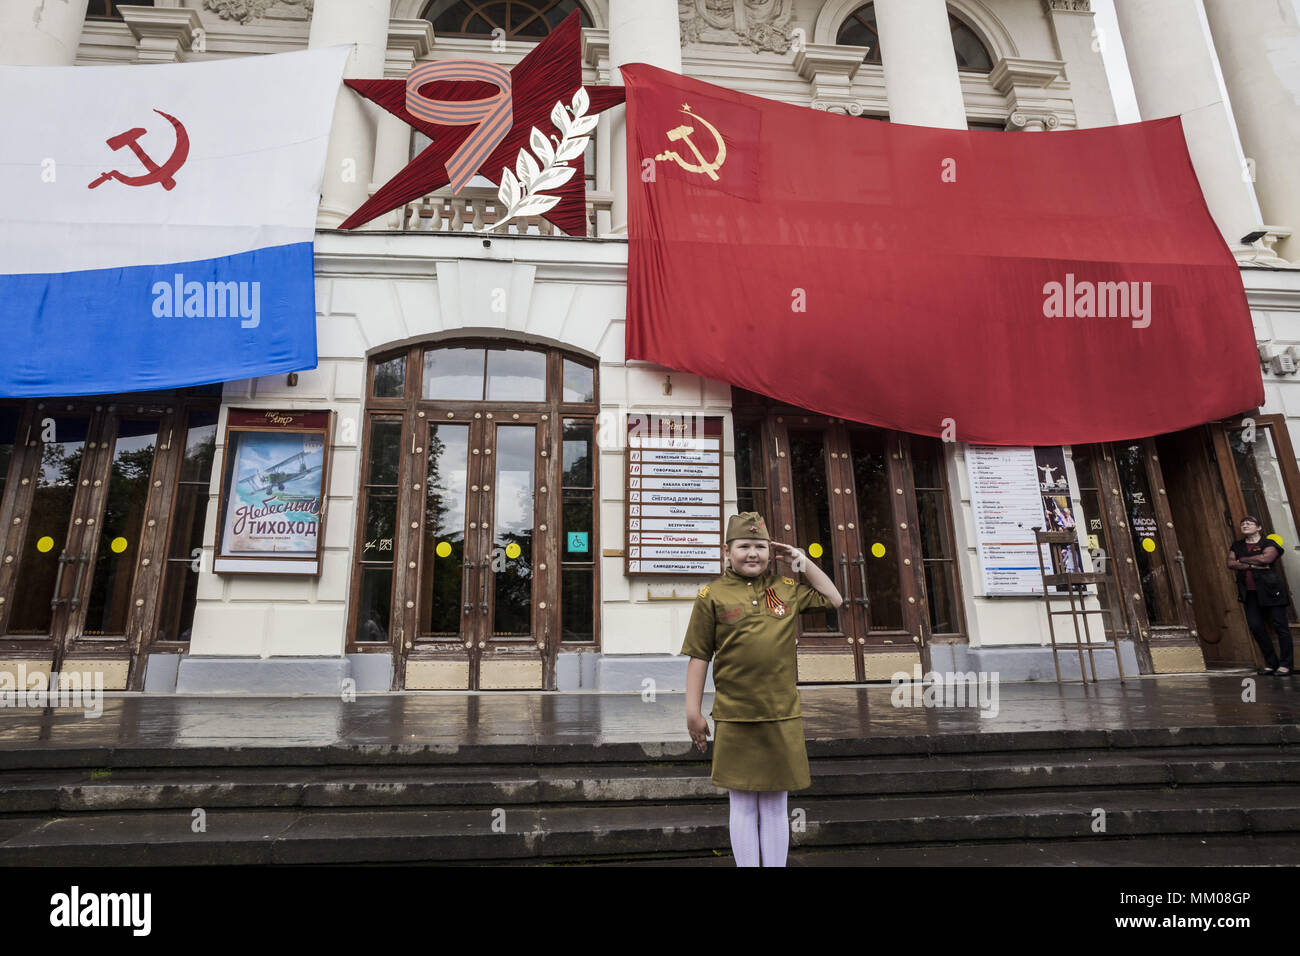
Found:
<svg viewBox="0 0 1300 956"><path fill-rule="evenodd" d="M382 79L389 46L389 0L316 0L307 47L355 44L344 78ZM374 169L378 107L346 86L338 91L316 224L333 229L368 199ZM378 224L382 228L382 222ZM373 224L372 224L373 228Z"/></svg>

